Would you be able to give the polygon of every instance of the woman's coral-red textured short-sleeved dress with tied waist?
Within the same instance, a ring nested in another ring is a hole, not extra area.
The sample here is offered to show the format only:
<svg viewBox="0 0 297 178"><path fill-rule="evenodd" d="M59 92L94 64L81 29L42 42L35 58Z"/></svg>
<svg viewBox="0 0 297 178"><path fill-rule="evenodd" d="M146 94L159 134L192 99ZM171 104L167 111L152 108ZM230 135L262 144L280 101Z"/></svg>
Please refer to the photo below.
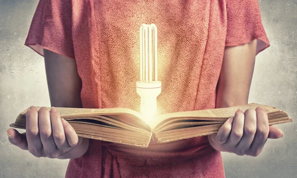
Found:
<svg viewBox="0 0 297 178"><path fill-rule="evenodd" d="M75 58L85 108L139 111L139 27L158 28L159 114L215 107L226 45L269 46L258 0L40 0L26 44ZM241 60L240 58L238 60ZM91 140L67 178L224 178L206 136L138 148Z"/></svg>

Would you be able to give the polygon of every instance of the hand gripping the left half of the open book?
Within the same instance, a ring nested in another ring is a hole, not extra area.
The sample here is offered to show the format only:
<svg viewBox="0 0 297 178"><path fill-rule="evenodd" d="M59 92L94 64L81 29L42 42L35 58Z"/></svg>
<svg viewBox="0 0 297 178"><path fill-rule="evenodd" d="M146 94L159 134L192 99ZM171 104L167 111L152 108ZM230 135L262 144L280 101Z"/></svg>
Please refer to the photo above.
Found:
<svg viewBox="0 0 297 178"><path fill-rule="evenodd" d="M26 112L26 133L8 129L7 134L10 143L36 157L73 159L83 156L89 147L89 139L78 137L54 107L49 111L31 106Z"/></svg>

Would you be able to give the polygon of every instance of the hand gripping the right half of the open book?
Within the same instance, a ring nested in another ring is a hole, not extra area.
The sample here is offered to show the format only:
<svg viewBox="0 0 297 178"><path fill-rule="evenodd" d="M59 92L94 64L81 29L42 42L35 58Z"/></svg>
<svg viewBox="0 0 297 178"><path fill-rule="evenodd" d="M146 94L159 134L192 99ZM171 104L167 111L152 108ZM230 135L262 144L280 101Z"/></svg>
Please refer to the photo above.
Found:
<svg viewBox="0 0 297 178"><path fill-rule="evenodd" d="M232 152L237 155L258 156L267 138L281 138L283 132L268 125L266 110L241 109L229 118L217 134L208 135L210 145L218 151Z"/></svg>

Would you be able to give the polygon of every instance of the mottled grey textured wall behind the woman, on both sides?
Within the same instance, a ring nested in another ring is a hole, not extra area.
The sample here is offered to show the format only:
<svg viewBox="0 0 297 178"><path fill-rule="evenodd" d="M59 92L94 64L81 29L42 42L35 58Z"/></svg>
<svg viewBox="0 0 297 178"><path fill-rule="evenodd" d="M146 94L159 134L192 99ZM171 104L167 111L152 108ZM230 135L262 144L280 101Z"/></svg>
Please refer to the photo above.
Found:
<svg viewBox="0 0 297 178"><path fill-rule="evenodd" d="M38 0L0 0L0 178L58 178L67 160L34 158L11 145L6 130L30 105L49 106L43 58L24 41ZM260 0L271 47L257 56L249 102L297 119L297 0ZM223 153L227 178L297 178L297 124L268 140L256 158Z"/></svg>

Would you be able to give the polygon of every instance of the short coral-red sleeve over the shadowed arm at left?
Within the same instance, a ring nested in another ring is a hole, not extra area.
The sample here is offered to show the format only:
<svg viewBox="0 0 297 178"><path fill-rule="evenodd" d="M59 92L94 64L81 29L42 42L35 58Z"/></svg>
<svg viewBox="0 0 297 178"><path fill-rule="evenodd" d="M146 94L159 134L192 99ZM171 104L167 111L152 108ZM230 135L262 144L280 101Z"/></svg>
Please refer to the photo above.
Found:
<svg viewBox="0 0 297 178"><path fill-rule="evenodd" d="M48 49L74 58L71 1L40 0L25 45L42 56Z"/></svg>

